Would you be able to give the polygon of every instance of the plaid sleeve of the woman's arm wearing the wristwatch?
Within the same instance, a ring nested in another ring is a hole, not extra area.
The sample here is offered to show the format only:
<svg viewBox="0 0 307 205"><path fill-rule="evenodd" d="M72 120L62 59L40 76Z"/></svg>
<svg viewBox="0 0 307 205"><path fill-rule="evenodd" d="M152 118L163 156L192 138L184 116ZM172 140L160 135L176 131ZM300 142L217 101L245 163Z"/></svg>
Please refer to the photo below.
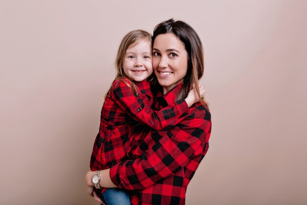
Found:
<svg viewBox="0 0 307 205"><path fill-rule="evenodd" d="M144 146L140 158L123 161L110 169L111 180L119 188L138 190L173 175L194 158L200 159L192 162L196 170L208 149L210 133L208 111L199 116L191 113L165 133L153 131L140 145ZM146 144L153 146L147 148Z"/></svg>

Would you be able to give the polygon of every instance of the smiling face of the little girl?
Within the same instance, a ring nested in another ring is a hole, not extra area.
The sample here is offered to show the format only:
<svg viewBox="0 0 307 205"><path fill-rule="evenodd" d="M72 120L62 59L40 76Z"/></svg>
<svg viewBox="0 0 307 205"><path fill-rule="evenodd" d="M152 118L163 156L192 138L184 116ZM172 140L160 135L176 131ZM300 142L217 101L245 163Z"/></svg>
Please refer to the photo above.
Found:
<svg viewBox="0 0 307 205"><path fill-rule="evenodd" d="M153 73L150 41L141 39L130 45L124 58L124 72L131 80L144 81Z"/></svg>

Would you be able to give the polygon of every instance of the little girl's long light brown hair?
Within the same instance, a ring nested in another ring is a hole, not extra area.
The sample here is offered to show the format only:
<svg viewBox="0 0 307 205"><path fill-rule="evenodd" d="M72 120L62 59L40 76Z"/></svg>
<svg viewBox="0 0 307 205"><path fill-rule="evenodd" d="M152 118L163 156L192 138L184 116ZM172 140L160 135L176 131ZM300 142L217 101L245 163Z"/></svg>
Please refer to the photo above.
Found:
<svg viewBox="0 0 307 205"><path fill-rule="evenodd" d="M115 67L117 70L117 74L116 74L114 81L120 80L123 83L125 83L128 87L131 88L131 90L136 94L136 96L138 96L138 89L136 85L133 83L133 80L130 79L124 72L123 64L124 64L125 54L126 54L128 47L133 44L137 44L138 41L141 41L141 40L149 41L150 43L152 43L152 34L150 34L149 32L145 30L140 30L140 29L132 30L128 32L123 37L119 45L117 55L116 55L116 61L115 61ZM127 81L125 81L124 78L128 78L130 82L127 83ZM114 87L116 87L116 85ZM112 89L112 85L109 91L107 92L107 95L109 94L111 89Z"/></svg>

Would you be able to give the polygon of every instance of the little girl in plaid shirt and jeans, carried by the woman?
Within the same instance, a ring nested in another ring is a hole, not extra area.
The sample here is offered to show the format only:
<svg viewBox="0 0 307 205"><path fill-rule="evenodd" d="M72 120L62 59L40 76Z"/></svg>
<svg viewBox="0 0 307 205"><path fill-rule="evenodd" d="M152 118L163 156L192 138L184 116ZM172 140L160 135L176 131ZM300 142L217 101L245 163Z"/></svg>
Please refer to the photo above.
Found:
<svg viewBox="0 0 307 205"><path fill-rule="evenodd" d="M96 193L105 205L130 204L128 194L117 188L99 186L100 170L121 162L130 146L128 134L137 124L162 130L176 124L179 117L199 100L195 89L187 98L172 107L153 111L151 83L153 74L152 35L144 30L133 30L126 34L120 44L116 58L117 76L105 97L99 133L96 137L90 168L96 171L92 181ZM204 94L203 88L201 88Z"/></svg>

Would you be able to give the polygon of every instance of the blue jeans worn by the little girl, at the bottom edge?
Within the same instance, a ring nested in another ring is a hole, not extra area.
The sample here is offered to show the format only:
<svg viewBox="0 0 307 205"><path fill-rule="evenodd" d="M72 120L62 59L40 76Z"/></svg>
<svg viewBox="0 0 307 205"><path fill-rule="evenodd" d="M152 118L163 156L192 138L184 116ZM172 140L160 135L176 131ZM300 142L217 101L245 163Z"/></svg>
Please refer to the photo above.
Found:
<svg viewBox="0 0 307 205"><path fill-rule="evenodd" d="M105 205L131 205L128 193L119 188L105 190L100 198Z"/></svg>

